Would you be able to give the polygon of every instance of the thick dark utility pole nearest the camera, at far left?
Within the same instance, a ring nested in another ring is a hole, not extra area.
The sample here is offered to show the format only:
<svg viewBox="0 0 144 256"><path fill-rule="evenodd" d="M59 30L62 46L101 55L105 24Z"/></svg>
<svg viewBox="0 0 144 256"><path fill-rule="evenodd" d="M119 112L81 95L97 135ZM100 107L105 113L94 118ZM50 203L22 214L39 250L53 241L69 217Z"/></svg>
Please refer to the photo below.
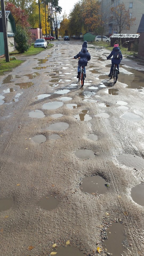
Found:
<svg viewBox="0 0 144 256"><path fill-rule="evenodd" d="M6 62L10 62L9 46L8 46L8 42L7 42L7 26L6 26L6 13L5 13L4 0L1 0L1 11L2 11L3 39L4 39L4 45L5 45L5 58L6 58Z"/></svg>

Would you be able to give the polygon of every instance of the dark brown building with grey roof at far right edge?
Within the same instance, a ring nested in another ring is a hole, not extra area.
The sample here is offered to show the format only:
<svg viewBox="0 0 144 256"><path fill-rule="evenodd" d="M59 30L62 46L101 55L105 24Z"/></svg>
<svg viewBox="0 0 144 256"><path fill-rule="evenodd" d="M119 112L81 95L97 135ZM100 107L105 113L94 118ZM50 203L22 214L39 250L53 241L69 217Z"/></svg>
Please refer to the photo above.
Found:
<svg viewBox="0 0 144 256"><path fill-rule="evenodd" d="M140 33L137 57L144 60L144 14L139 23L137 33Z"/></svg>

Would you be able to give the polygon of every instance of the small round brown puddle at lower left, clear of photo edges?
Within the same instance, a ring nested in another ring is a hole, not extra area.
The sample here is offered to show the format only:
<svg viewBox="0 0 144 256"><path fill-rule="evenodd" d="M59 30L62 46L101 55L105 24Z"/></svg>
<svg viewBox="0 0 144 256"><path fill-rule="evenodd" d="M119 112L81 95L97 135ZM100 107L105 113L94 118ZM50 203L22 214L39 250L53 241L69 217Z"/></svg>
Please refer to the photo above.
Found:
<svg viewBox="0 0 144 256"><path fill-rule="evenodd" d="M52 195L46 195L41 201L39 201L38 206L47 211L53 210L58 206L58 199Z"/></svg>

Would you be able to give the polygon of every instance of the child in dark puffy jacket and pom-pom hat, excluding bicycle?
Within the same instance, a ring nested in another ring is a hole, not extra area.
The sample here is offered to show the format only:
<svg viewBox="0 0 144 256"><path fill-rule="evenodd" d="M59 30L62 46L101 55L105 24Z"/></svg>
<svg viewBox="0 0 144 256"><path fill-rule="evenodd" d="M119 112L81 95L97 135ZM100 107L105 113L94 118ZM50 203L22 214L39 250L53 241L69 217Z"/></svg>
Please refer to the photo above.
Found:
<svg viewBox="0 0 144 256"><path fill-rule="evenodd" d="M78 75L77 75L77 78L80 77L80 67L81 66L83 66L84 76L86 78L86 68L85 68L85 66L87 66L87 62L90 61L90 59L91 59L90 53L87 50L87 41L83 42L81 51L77 55L75 55L73 59L77 59L77 58L79 59L79 61L78 61Z"/></svg>

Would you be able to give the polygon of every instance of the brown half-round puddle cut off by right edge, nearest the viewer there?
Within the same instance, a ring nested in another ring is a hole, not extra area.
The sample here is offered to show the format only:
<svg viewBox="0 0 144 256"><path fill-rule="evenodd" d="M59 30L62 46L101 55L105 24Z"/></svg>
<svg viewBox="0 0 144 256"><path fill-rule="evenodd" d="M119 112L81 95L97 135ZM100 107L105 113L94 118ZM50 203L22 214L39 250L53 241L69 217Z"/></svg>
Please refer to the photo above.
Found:
<svg viewBox="0 0 144 256"><path fill-rule="evenodd" d="M133 187L131 190L131 197L135 203L144 206L144 184Z"/></svg>

